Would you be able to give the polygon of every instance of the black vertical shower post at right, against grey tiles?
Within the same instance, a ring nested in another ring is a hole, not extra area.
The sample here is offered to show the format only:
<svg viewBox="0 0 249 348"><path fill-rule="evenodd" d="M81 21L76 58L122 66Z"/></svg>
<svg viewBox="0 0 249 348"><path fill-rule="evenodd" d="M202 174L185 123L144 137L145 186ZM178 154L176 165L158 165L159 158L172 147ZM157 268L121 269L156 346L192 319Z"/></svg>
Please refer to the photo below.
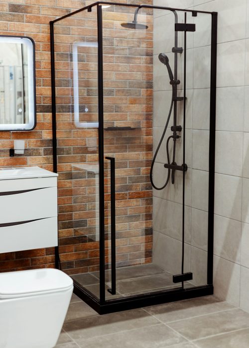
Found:
<svg viewBox="0 0 249 348"><path fill-rule="evenodd" d="M209 200L208 200L208 277L213 284L214 254L214 198L215 198L215 122L217 73L217 12L212 12L211 81L210 81L210 140L209 140Z"/></svg>

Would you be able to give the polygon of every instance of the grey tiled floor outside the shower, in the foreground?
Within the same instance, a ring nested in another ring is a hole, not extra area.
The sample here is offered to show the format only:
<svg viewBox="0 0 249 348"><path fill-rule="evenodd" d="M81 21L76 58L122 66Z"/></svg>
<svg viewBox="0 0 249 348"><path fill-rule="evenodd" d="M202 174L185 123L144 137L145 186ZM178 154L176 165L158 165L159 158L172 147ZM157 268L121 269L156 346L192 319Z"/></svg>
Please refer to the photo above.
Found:
<svg viewBox="0 0 249 348"><path fill-rule="evenodd" d="M57 348L249 348L249 313L206 296L98 315L76 295Z"/></svg>

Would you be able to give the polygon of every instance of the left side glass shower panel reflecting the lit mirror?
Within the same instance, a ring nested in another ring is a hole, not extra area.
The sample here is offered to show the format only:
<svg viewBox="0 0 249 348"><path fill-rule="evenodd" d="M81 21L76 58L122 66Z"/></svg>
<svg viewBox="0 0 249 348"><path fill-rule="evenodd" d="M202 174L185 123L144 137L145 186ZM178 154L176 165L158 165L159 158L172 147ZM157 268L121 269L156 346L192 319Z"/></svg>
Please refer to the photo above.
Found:
<svg viewBox="0 0 249 348"><path fill-rule="evenodd" d="M97 10L54 28L61 269L99 297Z"/></svg>

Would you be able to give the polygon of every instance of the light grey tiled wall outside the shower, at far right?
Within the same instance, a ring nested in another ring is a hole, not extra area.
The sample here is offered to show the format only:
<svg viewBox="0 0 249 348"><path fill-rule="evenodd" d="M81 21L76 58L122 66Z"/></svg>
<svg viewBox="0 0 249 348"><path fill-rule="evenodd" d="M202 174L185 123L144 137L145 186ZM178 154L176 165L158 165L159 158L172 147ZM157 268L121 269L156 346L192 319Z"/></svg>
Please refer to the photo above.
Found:
<svg viewBox="0 0 249 348"><path fill-rule="evenodd" d="M218 12L214 287L249 310L249 0L154 4Z"/></svg>

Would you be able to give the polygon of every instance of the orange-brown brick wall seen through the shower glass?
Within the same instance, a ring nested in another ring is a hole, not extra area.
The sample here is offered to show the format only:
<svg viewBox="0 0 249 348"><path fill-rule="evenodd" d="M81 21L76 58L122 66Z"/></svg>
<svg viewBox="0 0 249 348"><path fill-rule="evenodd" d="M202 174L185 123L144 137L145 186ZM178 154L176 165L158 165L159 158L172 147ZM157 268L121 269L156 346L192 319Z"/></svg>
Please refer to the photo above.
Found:
<svg viewBox="0 0 249 348"><path fill-rule="evenodd" d="M146 31L121 26L131 21L133 14L134 8L121 6L103 10L104 152L116 159L117 266L151 262L152 257L152 191L148 176L152 158L152 12L139 14L139 21L149 25ZM83 24L84 29L80 26ZM94 174L94 170L98 172L98 129L75 126L72 112L72 50L77 42L84 42L78 47L79 119L98 122L96 27L96 9L77 13L55 25L60 256L62 268L69 274L94 271L99 265L98 181ZM125 126L132 130L108 130ZM87 171L84 164L94 169ZM108 160L105 209L108 268Z"/></svg>

